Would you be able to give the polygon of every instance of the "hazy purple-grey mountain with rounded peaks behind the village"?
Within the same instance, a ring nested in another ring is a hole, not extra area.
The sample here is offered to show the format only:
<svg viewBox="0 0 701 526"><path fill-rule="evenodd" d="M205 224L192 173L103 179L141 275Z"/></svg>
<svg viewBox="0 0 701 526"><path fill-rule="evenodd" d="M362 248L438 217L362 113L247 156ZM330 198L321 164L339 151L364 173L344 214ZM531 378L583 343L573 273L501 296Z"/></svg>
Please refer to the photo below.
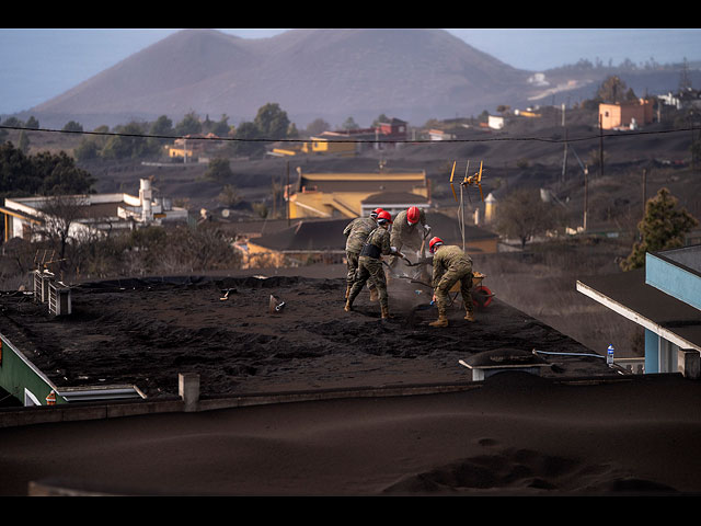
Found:
<svg viewBox="0 0 701 526"><path fill-rule="evenodd" d="M188 112L226 114L235 125L276 102L299 128L318 117L338 126L350 116L367 126L380 114L423 125L499 104L578 102L599 80L567 75L533 82L532 71L443 30L290 30L269 38L184 30L26 113L43 126L72 119L87 129L160 115L176 122ZM678 76L665 78L674 89Z"/></svg>

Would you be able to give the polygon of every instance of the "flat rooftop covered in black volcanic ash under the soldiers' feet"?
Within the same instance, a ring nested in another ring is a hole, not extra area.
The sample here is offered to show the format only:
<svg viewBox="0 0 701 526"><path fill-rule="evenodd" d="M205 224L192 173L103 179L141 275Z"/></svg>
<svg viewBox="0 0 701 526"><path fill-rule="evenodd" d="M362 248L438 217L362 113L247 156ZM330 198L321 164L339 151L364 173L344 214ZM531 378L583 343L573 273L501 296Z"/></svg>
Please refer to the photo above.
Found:
<svg viewBox="0 0 701 526"><path fill-rule="evenodd" d="M618 375L498 297L474 323L458 298L450 327L435 329L421 285L392 281L388 322L365 290L345 312L344 293L344 277L113 279L76 285L65 317L4 294L2 333L58 387L134 385L149 398L177 395L181 373L200 376L203 396L469 381L459 359L499 348L564 353L542 376Z"/></svg>

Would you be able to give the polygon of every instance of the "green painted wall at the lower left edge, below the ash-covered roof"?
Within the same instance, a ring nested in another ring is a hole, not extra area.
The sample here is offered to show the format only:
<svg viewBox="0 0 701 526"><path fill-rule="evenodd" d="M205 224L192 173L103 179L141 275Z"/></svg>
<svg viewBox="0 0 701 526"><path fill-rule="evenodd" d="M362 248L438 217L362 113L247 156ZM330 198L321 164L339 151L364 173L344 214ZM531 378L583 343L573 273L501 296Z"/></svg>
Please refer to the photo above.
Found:
<svg viewBox="0 0 701 526"><path fill-rule="evenodd" d="M21 403L24 403L24 389L26 388L42 405L46 405L46 397L51 392L53 387L18 355L4 335L0 334L0 339L2 341L0 386ZM61 397L56 397L56 403L67 402Z"/></svg>

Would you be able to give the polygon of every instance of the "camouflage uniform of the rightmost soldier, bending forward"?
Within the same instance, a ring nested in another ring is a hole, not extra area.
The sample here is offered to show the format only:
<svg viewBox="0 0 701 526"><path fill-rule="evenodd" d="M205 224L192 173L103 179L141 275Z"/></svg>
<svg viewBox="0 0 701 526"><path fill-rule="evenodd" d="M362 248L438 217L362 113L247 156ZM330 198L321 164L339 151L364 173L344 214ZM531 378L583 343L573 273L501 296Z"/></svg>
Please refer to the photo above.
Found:
<svg viewBox="0 0 701 526"><path fill-rule="evenodd" d="M460 282L460 294L466 309L466 320L472 321L474 306L472 304L472 259L455 244L440 245L434 253L434 276L439 320L446 319L448 294L452 286Z"/></svg>

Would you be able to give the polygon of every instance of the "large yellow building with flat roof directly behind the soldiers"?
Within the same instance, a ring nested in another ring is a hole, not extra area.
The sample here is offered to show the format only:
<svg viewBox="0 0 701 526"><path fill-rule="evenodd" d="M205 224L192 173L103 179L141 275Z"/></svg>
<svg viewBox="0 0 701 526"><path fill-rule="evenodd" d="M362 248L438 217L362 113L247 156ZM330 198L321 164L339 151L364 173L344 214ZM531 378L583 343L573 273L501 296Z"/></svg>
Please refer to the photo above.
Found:
<svg viewBox="0 0 701 526"><path fill-rule="evenodd" d="M379 173L306 173L298 169L288 188L289 217L347 217L363 215L363 201L378 193L410 193L429 199L425 171Z"/></svg>

